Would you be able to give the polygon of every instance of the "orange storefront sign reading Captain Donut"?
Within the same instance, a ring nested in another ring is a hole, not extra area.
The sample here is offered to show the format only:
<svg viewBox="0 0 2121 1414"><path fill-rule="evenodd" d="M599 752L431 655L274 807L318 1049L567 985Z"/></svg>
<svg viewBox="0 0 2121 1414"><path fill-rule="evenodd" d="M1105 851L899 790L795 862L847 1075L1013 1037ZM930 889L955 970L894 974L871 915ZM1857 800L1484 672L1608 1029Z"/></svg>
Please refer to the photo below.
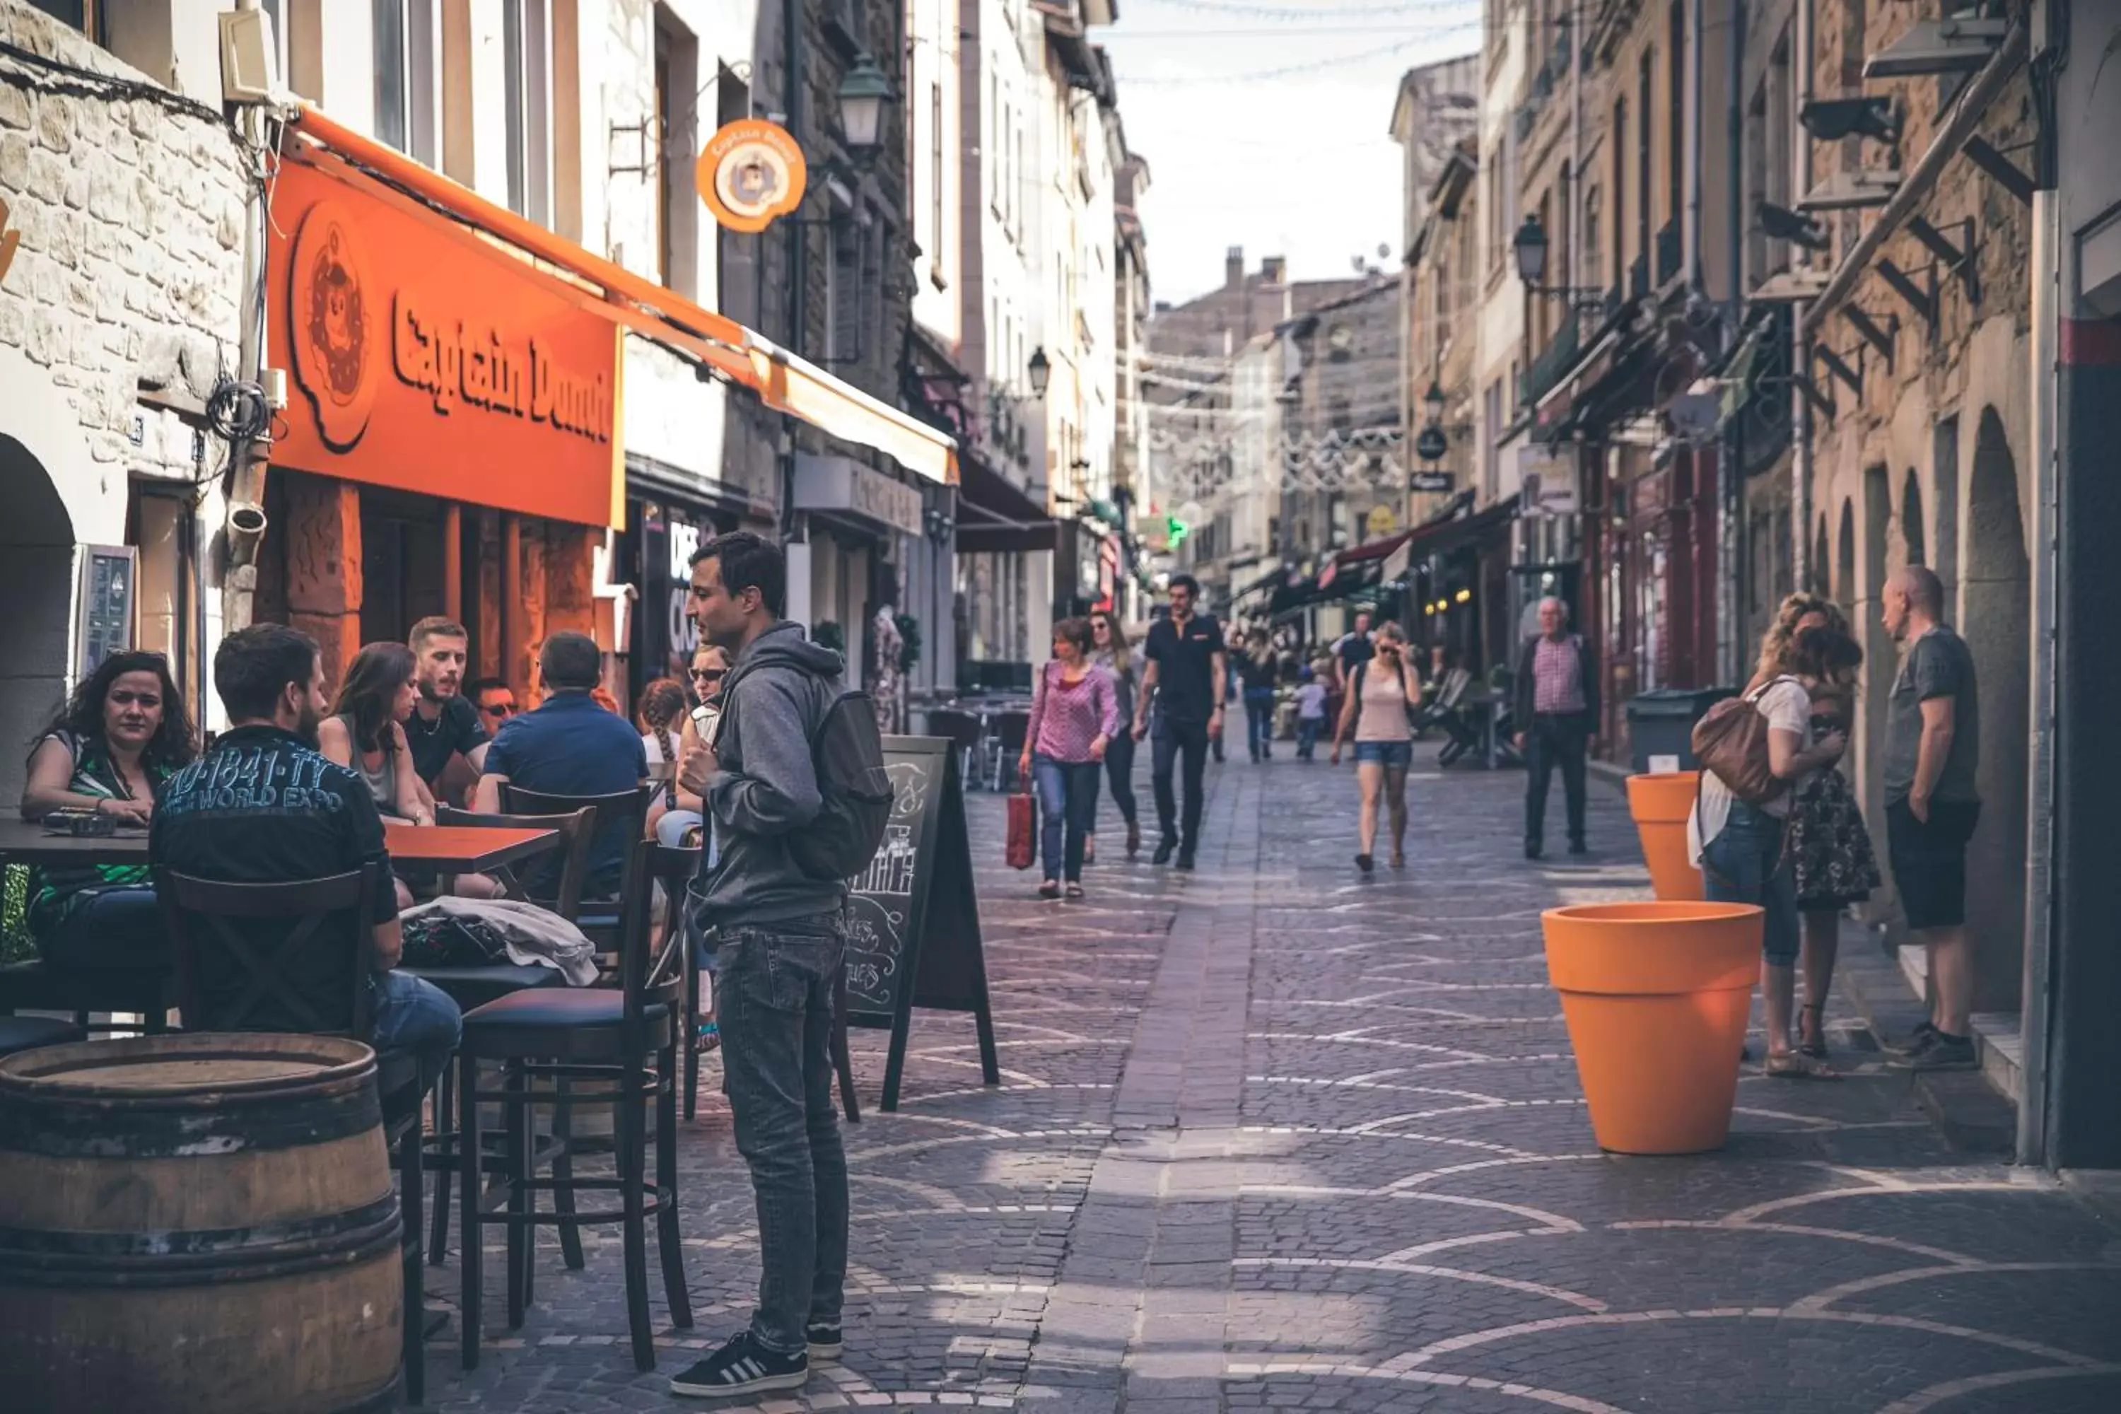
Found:
<svg viewBox="0 0 2121 1414"><path fill-rule="evenodd" d="M619 329L588 299L361 176L284 161L271 460L583 526L624 513Z"/></svg>

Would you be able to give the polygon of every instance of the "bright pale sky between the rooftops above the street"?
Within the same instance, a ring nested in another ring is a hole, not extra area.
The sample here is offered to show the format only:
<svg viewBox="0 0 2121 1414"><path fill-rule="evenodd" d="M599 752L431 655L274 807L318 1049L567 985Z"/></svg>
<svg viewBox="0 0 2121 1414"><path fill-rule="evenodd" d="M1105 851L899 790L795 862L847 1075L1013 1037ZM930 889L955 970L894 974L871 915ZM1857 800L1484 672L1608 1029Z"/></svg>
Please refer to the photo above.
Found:
<svg viewBox="0 0 2121 1414"><path fill-rule="evenodd" d="M1158 301L1283 254L1294 280L1396 269L1400 74L1480 47L1480 0L1120 0L1111 53ZM1379 259L1377 248L1387 257Z"/></svg>

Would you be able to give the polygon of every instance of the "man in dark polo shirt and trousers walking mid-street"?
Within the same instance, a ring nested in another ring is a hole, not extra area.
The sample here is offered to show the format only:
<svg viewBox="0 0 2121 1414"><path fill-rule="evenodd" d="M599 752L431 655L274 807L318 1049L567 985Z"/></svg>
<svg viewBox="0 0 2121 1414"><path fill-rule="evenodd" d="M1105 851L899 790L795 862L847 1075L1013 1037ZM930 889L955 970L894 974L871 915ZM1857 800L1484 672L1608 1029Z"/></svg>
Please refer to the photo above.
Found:
<svg viewBox="0 0 2121 1414"><path fill-rule="evenodd" d="M1154 863L1171 863L1177 852L1179 869L1192 869L1200 848L1207 746L1222 738L1222 697L1230 676L1222 623L1215 615L1194 613L1198 600L1200 581L1192 575L1171 577L1171 617L1150 625L1150 640L1141 651L1147 668L1135 704L1135 740L1152 738L1150 780L1156 784L1156 823L1162 827ZM1184 770L1184 825L1171 789L1175 770Z"/></svg>

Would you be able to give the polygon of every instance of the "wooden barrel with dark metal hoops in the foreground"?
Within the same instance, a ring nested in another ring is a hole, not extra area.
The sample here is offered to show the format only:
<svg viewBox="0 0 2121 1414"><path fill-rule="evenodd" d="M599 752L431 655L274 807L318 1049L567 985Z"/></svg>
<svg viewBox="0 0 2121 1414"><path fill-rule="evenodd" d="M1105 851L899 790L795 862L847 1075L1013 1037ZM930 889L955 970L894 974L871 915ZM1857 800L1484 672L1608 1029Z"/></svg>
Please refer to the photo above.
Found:
<svg viewBox="0 0 2121 1414"><path fill-rule="evenodd" d="M356 1041L170 1035L0 1060L0 1408L388 1408L399 1230Z"/></svg>

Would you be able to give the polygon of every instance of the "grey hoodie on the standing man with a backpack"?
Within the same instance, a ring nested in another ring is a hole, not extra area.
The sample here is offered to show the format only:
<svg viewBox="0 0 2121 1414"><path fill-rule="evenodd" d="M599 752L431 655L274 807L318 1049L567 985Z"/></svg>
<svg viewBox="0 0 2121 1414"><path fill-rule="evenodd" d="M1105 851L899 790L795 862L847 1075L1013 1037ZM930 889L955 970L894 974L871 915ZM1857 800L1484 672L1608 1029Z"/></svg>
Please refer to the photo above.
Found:
<svg viewBox="0 0 2121 1414"><path fill-rule="evenodd" d="M838 912L842 880L817 880L789 859L787 835L819 812L810 738L838 695L844 664L781 621L736 655L706 782L721 859L696 884L706 929L785 922Z"/></svg>

